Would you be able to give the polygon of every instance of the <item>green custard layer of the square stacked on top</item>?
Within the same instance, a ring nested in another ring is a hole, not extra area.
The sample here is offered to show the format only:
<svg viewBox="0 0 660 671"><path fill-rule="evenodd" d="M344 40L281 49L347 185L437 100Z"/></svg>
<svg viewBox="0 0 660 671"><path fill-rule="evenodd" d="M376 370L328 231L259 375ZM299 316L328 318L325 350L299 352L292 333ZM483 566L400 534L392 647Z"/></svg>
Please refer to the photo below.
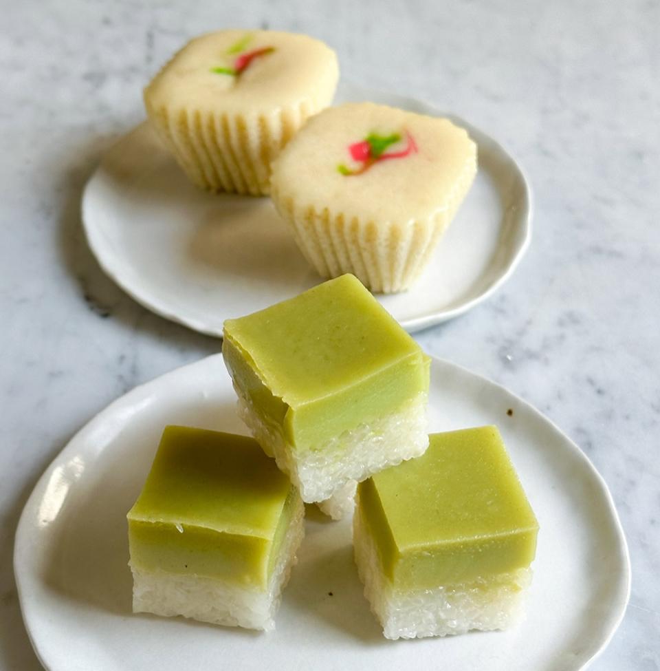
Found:
<svg viewBox="0 0 660 671"><path fill-rule="evenodd" d="M225 321L223 356L254 412L296 449L428 392L428 357L353 275Z"/></svg>

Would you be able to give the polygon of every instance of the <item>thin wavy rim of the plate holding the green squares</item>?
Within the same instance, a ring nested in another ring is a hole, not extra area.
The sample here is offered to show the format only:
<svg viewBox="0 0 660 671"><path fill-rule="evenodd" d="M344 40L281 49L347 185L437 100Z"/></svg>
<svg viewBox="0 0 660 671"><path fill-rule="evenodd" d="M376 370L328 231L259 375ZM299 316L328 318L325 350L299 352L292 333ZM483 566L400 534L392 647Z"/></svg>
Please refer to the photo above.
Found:
<svg viewBox="0 0 660 671"><path fill-rule="evenodd" d="M45 490L47 489L47 483L49 482L50 477L52 476L52 472L59 465L61 465L64 462L67 462L69 458L68 456L69 453L75 451L76 445L78 443L84 441L88 434L93 434L96 431L96 429L104 423L104 416L106 414L113 414L122 406L135 406L138 404L141 398L144 398L145 396L148 396L149 394L153 393L154 387L161 387L162 385L166 384L169 379L176 378L177 376L180 376L182 374L186 373L189 374L195 368L206 368L208 365L213 365L214 362L216 361L221 361L221 359L222 359L221 353L211 354L210 356L206 356L203 359L199 359L192 363L181 365L149 381L137 385L136 387L133 387L133 389L131 389L129 392L126 392L125 394L122 394L122 396L115 398L113 401L111 401L111 403L102 408L98 413L94 414L94 416L91 419L89 419L82 427L80 427L80 429L78 429L78 431L74 434L74 436L72 436L72 438L70 438L67 441L66 445L58 452L58 454L56 454L52 462L50 462L50 464L46 467L46 469L41 474L39 480L34 485L34 489L32 489L32 492L30 493L30 496L28 497L28 500L25 502L23 510L21 511L19 523L17 524L16 533L14 535L14 553L12 557L13 560L12 566L14 570L14 579L17 586L17 593L19 597L19 605L21 608L21 616L23 617L23 625L25 626L25 630L28 633L28 638L30 639L30 643L32 644L32 648L34 649L36 657L39 659L41 665L43 665L43 667L47 671L61 671L61 670L56 669L47 663L43 655L43 651L41 650L41 647L39 645L38 641L39 637L38 635L36 635L36 633L32 631L32 628L29 624L29 616L27 613L27 609L29 608L29 606L27 605L28 601L26 600L27 599L26 591L28 590L28 583L30 582L30 575L32 574L26 575L25 572L22 570L20 566L20 555L25 551L23 548L29 546L30 538L33 537L34 525L31 523L31 519L34 517L34 511L36 511L36 508L39 506L39 502L41 502L41 500L43 499ZM539 409L531 405L531 403L525 401L524 398L521 398L517 394L514 394L514 392L508 390L507 387L500 385L500 383L497 383L481 374L472 372L468 368L465 368L465 366L453 363L452 361L448 361L447 359L441 359L437 356L430 356L430 359L432 368L439 367L441 369L442 368L454 369L461 375L470 376L480 381L481 383L486 383L487 385L492 385L496 387L496 389L500 394L505 394L505 396L508 396L511 400L515 401L516 404L525 407L525 409L528 412L531 412L531 414L533 414L536 418L542 420L544 423L547 423L547 425L553 430L553 432L558 434L560 438L562 438L564 443L566 443L566 445L570 447L571 453L575 457L580 459L583 467L586 468L586 471L588 471L589 476L591 476L591 478L593 478L593 480L597 483L601 493L604 495L604 500L606 501L607 504L607 512L608 512L608 518L610 520L610 525L613 531L616 532L616 537L618 540L617 553L619 554L619 559L621 561L621 567L622 567L621 575L619 575L618 577L619 601L613 604L613 608L612 610L610 610L610 614L613 615L613 619L610 623L610 627L607 634L599 642L597 642L597 648L593 650L591 657L589 657L589 659L586 659L584 663L582 663L582 665L580 665L579 667L575 667L575 669L572 670L572 671L582 671L586 669L589 665L591 665L591 663L600 654L602 654L602 652L608 646L613 636L617 632L617 629L619 628L621 621L624 619L624 615L626 614L626 608L628 606L628 601L630 600L630 589L632 582L632 575L630 568L630 551L628 548L628 542L626 540L626 534L624 532L623 525L621 524L621 520L619 518L619 514L617 512L612 493L610 492L610 489L608 488L608 485L605 482L603 476L596 469L595 465L593 465L591 459L589 459L588 456L584 453L584 451L580 449L577 443L571 440L571 438L569 438L569 436L567 436L562 431L562 429L560 429L560 427L558 427L558 425L556 425L553 422L553 420L544 415Z"/></svg>

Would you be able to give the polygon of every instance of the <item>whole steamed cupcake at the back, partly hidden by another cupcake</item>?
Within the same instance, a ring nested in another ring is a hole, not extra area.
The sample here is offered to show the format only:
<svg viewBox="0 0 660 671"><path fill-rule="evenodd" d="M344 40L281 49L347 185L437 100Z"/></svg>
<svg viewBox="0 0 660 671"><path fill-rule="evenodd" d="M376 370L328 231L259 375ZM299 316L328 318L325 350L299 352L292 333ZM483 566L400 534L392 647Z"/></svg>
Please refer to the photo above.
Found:
<svg viewBox="0 0 660 671"><path fill-rule="evenodd" d="M197 37L144 90L147 116L190 180L261 195L270 164L331 102L335 52L306 35L221 30Z"/></svg>

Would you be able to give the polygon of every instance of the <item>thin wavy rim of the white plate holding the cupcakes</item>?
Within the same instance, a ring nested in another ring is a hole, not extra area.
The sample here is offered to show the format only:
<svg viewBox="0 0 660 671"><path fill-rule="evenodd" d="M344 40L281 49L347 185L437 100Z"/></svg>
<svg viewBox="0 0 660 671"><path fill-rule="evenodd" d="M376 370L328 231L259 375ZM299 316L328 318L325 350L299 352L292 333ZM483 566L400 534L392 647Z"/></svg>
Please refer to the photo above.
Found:
<svg viewBox="0 0 660 671"><path fill-rule="evenodd" d="M401 327L404 328L408 333L414 333L424 328L429 328L430 326L435 326L436 324L443 323L454 317L459 317L459 315L465 314L472 308L475 308L479 303L486 301L491 297L496 291L498 291L503 284L513 275L518 268L518 264L522 261L522 258L527 253L527 249L531 243L531 237L533 233L532 218L534 211L534 199L533 191L531 189L531 184L527 176L525 168L522 166L522 163L514 153L509 151L505 145L496 140L491 134L487 131L476 127L469 121L465 120L462 116L454 114L453 112L444 111L439 107L436 107L433 103L430 103L428 100L423 98L415 98L414 96L401 95L393 92L389 92L386 89L375 89L366 85L361 85L353 81L342 81L338 87L339 92L349 92L355 97L359 96L364 98L379 98L380 96L386 96L389 100L397 100L397 106L399 107L416 107L417 109L423 109L424 114L430 116L441 116L450 118L452 122L457 125L461 125L465 128L470 136L476 141L477 146L487 143L491 149L495 149L500 153L501 156L505 157L510 164L512 171L516 173L520 184L522 184L522 209L518 215L518 220L520 221L520 231L522 239L513 246L513 255L509 264L506 266L505 271L501 273L495 281L489 284L480 294L476 295L472 299L460 303L454 308L449 308L446 310L433 311L425 315L419 315L417 317L410 317L409 319L403 319L399 321ZM117 147L120 142L125 140L129 135L135 133L138 129L147 126L148 121L143 120L141 123L126 131L119 138L113 142L113 144L104 152L101 157L98 165L94 169L94 172L91 173L89 179L85 183L85 188L83 189L83 195L80 200L80 219L83 223L83 231L85 233L85 239L87 240L87 246L91 251L92 255L98 262L99 266L102 268L103 272L129 297L131 297L135 302L140 306L149 310L150 312L164 317L169 321L181 324L181 326L186 326L199 333L221 338L222 332L217 328L210 328L206 326L203 320L198 319L197 317L181 316L172 308L168 307L166 301L159 299L157 296L152 295L150 292L142 292L140 288L135 288L130 282L126 282L122 279L121 273L118 270L113 268L111 262L107 255L102 253L103 241L101 239L101 234L98 226L91 224L93 215L90 215L92 206L90 204L91 199L93 198L94 185L99 178L99 175L104 167L104 162L109 156L109 154ZM111 255L110 255L111 256ZM320 280L322 281L322 280ZM398 321L398 320L397 320Z"/></svg>

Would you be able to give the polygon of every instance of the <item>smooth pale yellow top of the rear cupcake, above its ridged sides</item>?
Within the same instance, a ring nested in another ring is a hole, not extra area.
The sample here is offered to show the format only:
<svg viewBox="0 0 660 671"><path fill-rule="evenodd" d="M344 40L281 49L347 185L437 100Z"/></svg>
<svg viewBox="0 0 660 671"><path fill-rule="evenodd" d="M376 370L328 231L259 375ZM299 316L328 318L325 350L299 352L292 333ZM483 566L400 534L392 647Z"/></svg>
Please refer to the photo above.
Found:
<svg viewBox="0 0 660 671"><path fill-rule="evenodd" d="M337 56L307 35L221 30L190 41L144 90L158 109L195 107L248 116L298 105L327 105L339 77Z"/></svg>

